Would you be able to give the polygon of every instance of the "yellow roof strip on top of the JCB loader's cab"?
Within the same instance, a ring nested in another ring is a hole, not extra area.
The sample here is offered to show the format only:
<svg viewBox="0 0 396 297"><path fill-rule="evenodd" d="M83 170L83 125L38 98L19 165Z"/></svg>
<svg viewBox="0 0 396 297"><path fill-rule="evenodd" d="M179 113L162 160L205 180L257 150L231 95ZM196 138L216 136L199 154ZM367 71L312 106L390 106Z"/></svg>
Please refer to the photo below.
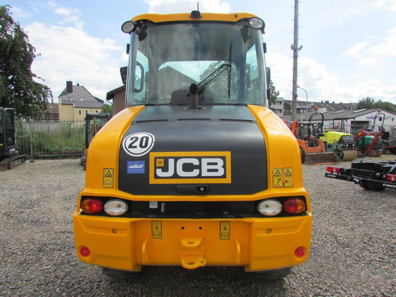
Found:
<svg viewBox="0 0 396 297"><path fill-rule="evenodd" d="M236 13L205 13L200 14L200 18L192 18L191 13L173 13L173 14L157 14L157 13L145 13L133 17L131 20L134 22L140 20L149 20L153 23L164 23L164 22L177 22L177 21L220 21L220 22L238 22L245 18L251 18L256 15L246 12Z"/></svg>

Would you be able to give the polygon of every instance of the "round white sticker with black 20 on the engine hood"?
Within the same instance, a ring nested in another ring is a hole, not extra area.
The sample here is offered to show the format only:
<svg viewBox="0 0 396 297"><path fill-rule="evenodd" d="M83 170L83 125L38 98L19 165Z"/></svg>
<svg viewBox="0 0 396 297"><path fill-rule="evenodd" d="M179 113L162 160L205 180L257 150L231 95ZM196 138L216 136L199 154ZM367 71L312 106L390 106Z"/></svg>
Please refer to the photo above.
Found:
<svg viewBox="0 0 396 297"><path fill-rule="evenodd" d="M154 135L150 133L135 133L125 137L122 147L131 156L139 157L147 154L154 145Z"/></svg>

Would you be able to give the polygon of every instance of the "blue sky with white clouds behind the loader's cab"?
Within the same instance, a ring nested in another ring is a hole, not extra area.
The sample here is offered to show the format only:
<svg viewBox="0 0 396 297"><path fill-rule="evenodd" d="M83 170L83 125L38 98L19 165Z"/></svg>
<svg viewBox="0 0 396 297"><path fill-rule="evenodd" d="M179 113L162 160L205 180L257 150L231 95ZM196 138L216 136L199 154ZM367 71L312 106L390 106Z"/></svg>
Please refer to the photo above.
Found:
<svg viewBox="0 0 396 297"><path fill-rule="evenodd" d="M265 22L266 64L292 99L294 0L5 0L40 53L32 71L54 102L73 81L104 100L122 85L129 35L121 25L142 13L250 12ZM3 4L3 5L4 5ZM300 0L298 99L396 104L396 0Z"/></svg>

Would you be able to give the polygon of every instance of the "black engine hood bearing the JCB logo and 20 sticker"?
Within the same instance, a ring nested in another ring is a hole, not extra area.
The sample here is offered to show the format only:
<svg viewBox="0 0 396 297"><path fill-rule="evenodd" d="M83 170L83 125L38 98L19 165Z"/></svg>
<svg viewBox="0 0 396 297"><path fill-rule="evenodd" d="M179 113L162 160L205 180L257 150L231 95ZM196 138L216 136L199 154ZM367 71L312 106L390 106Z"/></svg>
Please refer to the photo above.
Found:
<svg viewBox="0 0 396 297"><path fill-rule="evenodd" d="M251 195L267 189L264 137L246 106L147 106L121 141L119 190Z"/></svg>

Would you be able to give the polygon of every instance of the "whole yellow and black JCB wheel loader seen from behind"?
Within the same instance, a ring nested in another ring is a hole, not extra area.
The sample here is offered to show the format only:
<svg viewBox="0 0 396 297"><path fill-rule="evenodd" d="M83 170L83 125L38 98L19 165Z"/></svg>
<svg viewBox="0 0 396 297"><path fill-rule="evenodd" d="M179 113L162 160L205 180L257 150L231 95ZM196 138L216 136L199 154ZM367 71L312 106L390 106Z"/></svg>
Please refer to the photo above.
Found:
<svg viewBox="0 0 396 297"><path fill-rule="evenodd" d="M308 257L312 214L296 138L268 108L263 20L143 14L122 30L126 108L88 149L78 257L120 278L148 265L285 277Z"/></svg>

